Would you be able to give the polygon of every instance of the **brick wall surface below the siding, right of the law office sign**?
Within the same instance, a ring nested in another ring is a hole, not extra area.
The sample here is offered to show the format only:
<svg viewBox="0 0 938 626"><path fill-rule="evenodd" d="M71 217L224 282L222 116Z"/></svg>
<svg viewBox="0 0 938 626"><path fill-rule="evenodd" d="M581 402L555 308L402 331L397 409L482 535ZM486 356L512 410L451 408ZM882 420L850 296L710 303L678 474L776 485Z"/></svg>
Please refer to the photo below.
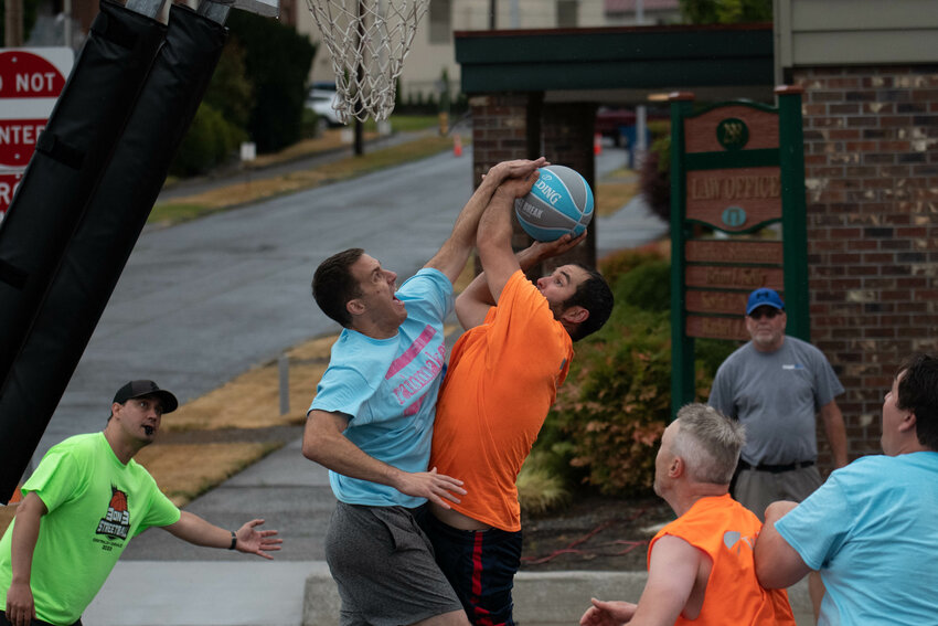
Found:
<svg viewBox="0 0 938 626"><path fill-rule="evenodd" d="M797 68L793 82L804 87L811 339L846 388L854 458L880 452L896 367L938 351L938 66Z"/></svg>

